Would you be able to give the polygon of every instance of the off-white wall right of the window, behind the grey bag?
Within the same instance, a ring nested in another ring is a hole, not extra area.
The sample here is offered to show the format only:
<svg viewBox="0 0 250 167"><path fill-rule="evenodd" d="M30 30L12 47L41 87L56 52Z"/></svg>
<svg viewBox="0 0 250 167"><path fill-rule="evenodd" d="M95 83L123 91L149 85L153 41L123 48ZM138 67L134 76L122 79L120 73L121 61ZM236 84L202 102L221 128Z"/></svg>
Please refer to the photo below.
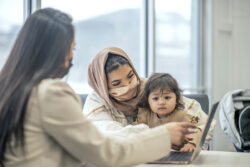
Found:
<svg viewBox="0 0 250 167"><path fill-rule="evenodd" d="M232 89L250 89L250 0L205 1L206 86L211 104ZM218 113L213 149L234 151Z"/></svg>

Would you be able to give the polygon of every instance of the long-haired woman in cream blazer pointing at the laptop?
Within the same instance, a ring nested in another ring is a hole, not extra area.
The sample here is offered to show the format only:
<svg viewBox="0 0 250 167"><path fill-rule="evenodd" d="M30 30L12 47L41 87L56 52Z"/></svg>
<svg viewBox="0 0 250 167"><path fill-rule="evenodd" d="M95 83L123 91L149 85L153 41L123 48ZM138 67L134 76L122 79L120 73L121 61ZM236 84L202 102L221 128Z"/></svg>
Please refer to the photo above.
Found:
<svg viewBox="0 0 250 167"><path fill-rule="evenodd" d="M131 166L168 154L170 138L184 143L190 124L180 124L183 133L169 124L126 140L101 134L61 80L74 47L67 14L46 8L25 21L0 72L1 167Z"/></svg>

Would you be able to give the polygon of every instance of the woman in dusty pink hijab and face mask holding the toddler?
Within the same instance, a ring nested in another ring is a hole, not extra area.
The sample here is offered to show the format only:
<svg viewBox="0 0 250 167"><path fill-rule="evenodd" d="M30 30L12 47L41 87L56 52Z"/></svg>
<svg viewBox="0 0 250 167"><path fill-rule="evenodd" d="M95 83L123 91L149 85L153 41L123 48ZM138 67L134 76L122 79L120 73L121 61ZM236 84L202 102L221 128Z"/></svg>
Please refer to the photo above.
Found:
<svg viewBox="0 0 250 167"><path fill-rule="evenodd" d="M88 67L88 83L94 91L86 99L84 115L105 135L126 138L149 129L145 124L131 125L137 116L145 80L138 76L122 49L104 48ZM170 135L182 133L179 123L172 125L175 130L168 129ZM171 139L172 146L175 145L174 140Z"/></svg>

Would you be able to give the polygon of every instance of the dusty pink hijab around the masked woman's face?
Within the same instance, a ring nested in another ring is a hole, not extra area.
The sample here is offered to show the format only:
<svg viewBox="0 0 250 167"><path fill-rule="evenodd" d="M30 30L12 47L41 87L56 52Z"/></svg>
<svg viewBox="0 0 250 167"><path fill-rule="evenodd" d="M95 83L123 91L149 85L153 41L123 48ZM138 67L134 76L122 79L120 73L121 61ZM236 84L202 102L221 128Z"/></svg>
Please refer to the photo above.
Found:
<svg viewBox="0 0 250 167"><path fill-rule="evenodd" d="M137 95L127 101L117 101L109 95L108 81L105 74L105 64L108 54L113 53L120 55L128 60L129 65L133 69L134 74L139 79ZM126 116L136 117L137 104L142 98L144 92L145 79L140 78L128 55L120 48L107 47L97 53L88 66L88 84L94 89L97 94L102 97L111 107L123 112Z"/></svg>

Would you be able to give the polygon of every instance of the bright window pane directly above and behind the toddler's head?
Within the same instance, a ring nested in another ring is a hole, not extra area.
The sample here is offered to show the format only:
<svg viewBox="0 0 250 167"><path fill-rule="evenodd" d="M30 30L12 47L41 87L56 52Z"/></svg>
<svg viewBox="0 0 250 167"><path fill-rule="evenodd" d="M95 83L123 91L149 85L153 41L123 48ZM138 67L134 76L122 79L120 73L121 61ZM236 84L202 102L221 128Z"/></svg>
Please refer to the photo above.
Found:
<svg viewBox="0 0 250 167"><path fill-rule="evenodd" d="M199 91L200 0L155 1L155 70L177 79L186 92Z"/></svg>

